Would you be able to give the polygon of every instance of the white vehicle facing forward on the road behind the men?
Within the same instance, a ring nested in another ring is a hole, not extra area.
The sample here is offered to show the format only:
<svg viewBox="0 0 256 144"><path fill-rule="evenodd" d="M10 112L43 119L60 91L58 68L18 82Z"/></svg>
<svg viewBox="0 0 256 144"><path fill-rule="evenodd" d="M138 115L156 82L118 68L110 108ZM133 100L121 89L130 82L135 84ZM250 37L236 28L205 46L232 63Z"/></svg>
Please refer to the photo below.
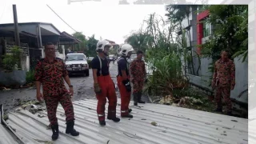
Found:
<svg viewBox="0 0 256 144"><path fill-rule="evenodd" d="M66 54L66 69L69 74L84 74L89 76L89 65L83 53Z"/></svg>

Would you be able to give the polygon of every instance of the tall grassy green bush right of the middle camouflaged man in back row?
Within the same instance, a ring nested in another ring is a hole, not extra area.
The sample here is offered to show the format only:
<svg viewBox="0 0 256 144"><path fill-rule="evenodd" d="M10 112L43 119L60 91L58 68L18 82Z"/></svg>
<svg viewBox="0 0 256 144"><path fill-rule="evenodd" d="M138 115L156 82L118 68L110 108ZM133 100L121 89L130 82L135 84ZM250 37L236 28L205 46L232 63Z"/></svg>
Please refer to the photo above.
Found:
<svg viewBox="0 0 256 144"><path fill-rule="evenodd" d="M154 89L154 94L171 94L174 89L187 86L187 79L182 73L182 59L174 51L169 53L164 49L148 50L147 61L154 71L147 83L146 90Z"/></svg>

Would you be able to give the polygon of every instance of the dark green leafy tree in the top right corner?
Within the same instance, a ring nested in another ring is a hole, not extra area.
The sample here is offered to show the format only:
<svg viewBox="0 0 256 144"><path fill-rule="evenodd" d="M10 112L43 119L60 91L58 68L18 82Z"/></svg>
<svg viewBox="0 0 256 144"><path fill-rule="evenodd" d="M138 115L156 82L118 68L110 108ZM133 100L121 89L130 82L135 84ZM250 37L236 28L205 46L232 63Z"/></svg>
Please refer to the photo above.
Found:
<svg viewBox="0 0 256 144"><path fill-rule="evenodd" d="M237 57L243 54L243 61L248 54L248 6L213 5L209 6L210 18L206 19L214 26L209 41L202 45L202 54L216 61L220 52L230 50Z"/></svg>

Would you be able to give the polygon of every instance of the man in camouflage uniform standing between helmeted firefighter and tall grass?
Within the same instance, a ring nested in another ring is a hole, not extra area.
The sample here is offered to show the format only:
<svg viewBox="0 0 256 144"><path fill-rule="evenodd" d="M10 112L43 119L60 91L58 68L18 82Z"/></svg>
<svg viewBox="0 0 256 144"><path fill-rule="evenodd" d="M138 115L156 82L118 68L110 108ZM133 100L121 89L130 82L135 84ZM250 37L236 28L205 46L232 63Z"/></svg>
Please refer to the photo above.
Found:
<svg viewBox="0 0 256 144"><path fill-rule="evenodd" d="M133 83L134 106L138 103L145 103L142 101L142 88L146 82L146 67L145 62L142 60L143 52L138 50L137 58L130 63L130 79Z"/></svg>

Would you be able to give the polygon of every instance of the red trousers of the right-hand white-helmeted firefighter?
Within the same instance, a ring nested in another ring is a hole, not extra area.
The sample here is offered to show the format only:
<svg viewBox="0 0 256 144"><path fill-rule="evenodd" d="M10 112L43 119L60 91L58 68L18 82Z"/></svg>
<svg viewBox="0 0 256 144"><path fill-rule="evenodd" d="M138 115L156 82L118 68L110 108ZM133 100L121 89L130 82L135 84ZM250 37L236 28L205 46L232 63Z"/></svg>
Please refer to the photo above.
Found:
<svg viewBox="0 0 256 144"><path fill-rule="evenodd" d="M123 78L118 76L118 89L121 95L121 116L126 116L129 114L129 103L130 103L130 93L126 90L126 86L122 83Z"/></svg>

